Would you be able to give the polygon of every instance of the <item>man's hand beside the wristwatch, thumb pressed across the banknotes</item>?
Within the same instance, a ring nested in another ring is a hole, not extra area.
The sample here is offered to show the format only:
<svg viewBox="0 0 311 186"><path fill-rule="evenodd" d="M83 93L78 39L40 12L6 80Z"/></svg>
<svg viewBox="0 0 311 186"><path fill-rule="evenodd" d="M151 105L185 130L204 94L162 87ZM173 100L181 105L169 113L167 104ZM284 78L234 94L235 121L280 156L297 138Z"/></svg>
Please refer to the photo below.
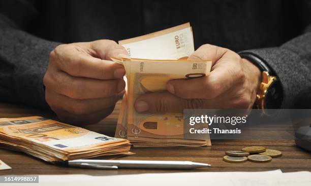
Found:
<svg viewBox="0 0 311 186"><path fill-rule="evenodd" d="M211 59L209 76L169 81L168 92L139 97L135 109L165 113L182 112L184 108L252 108L261 79L254 64L229 49L212 45L201 46L189 59Z"/></svg>

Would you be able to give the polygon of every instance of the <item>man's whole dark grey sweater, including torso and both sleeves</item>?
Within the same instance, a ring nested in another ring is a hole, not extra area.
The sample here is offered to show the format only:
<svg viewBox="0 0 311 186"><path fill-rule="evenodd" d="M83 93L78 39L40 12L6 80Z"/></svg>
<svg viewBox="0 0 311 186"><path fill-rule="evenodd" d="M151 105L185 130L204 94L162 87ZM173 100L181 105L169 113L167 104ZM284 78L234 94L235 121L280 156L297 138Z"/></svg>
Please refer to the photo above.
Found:
<svg viewBox="0 0 311 186"><path fill-rule="evenodd" d="M118 41L189 21L196 48L261 56L282 82L284 107L311 107L307 0L0 0L0 101L49 108L42 79L59 43Z"/></svg>

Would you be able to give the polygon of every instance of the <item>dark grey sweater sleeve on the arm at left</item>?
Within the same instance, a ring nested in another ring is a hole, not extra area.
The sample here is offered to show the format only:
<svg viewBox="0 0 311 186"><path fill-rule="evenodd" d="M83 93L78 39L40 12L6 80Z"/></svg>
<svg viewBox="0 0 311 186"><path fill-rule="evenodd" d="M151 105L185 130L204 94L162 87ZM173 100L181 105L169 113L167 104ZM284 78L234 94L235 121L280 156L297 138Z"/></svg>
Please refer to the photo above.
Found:
<svg viewBox="0 0 311 186"><path fill-rule="evenodd" d="M23 31L37 13L30 1L0 4L0 101L49 108L43 76L49 53L59 44Z"/></svg>

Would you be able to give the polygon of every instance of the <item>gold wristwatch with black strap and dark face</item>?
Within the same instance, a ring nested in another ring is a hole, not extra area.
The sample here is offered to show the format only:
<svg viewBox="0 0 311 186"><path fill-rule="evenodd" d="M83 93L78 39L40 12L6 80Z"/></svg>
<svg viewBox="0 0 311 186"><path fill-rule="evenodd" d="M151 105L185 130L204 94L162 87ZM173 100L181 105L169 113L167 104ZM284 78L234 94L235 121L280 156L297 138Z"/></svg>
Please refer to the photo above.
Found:
<svg viewBox="0 0 311 186"><path fill-rule="evenodd" d="M259 90L256 94L256 101L254 106L261 109L262 115L274 115L283 102L283 89L281 82L274 75L275 73L269 68L266 62L256 54L243 51L238 53L241 58L256 65L262 72L262 80Z"/></svg>

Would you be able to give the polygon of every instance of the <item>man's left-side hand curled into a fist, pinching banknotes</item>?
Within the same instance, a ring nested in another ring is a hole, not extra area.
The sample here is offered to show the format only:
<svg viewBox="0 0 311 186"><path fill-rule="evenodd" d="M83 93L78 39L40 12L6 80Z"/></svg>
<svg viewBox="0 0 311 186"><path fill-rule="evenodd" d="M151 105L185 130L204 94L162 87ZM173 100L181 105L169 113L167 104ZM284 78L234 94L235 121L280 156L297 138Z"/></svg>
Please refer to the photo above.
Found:
<svg viewBox="0 0 311 186"><path fill-rule="evenodd" d="M125 69L110 57L128 57L114 41L57 46L43 82L45 99L59 119L90 124L108 116L124 93Z"/></svg>

